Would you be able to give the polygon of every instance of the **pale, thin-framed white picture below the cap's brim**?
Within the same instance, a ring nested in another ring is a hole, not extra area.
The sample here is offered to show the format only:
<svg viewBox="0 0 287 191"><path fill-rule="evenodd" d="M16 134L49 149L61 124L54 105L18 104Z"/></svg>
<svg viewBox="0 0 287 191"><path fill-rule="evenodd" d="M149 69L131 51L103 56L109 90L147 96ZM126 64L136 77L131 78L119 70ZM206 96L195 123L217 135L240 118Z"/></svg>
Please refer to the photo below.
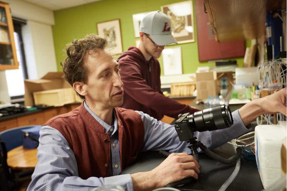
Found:
<svg viewBox="0 0 287 191"><path fill-rule="evenodd" d="M182 74L181 47L166 48L162 50L164 75Z"/></svg>

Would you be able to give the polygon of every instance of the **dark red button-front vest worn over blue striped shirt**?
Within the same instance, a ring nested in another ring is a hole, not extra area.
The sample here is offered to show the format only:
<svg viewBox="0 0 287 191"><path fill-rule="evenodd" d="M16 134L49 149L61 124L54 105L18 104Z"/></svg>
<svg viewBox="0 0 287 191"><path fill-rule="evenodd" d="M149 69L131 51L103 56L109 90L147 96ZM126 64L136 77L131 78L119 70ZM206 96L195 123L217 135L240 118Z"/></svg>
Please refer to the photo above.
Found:
<svg viewBox="0 0 287 191"><path fill-rule="evenodd" d="M115 108L118 122L121 170L141 152L144 124L141 116L124 108ZM79 177L107 177L110 166L110 136L104 127L84 108L56 116L46 122L59 130L75 154Z"/></svg>

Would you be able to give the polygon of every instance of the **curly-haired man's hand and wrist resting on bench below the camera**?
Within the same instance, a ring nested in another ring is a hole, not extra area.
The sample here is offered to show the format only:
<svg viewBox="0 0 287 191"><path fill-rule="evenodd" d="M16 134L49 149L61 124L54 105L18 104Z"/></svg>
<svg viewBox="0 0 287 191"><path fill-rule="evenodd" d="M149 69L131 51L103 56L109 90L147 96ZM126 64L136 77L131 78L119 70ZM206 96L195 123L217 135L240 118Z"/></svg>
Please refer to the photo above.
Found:
<svg viewBox="0 0 287 191"><path fill-rule="evenodd" d="M193 156L172 153L155 169L131 174L131 178L134 190L153 190L189 176L198 179L198 173L199 164Z"/></svg>

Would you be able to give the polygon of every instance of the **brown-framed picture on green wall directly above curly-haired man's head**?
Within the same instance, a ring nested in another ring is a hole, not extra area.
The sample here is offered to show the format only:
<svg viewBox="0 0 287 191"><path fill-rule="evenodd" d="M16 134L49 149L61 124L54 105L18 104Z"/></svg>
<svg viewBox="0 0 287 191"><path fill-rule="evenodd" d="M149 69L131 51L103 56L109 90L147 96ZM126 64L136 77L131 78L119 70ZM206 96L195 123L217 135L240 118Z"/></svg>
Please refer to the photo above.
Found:
<svg viewBox="0 0 287 191"><path fill-rule="evenodd" d="M119 19L97 23L97 31L99 36L105 36L108 39L108 48L113 54L123 52Z"/></svg>

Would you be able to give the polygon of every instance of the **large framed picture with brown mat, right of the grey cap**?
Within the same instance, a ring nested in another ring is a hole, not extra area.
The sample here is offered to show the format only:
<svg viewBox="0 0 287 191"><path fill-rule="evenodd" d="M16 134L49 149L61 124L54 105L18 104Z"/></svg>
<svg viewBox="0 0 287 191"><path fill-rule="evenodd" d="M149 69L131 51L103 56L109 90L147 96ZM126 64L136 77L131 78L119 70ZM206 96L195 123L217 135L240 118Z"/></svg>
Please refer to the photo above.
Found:
<svg viewBox="0 0 287 191"><path fill-rule="evenodd" d="M164 5L161 11L170 18L172 36L179 44L195 41L192 1Z"/></svg>

